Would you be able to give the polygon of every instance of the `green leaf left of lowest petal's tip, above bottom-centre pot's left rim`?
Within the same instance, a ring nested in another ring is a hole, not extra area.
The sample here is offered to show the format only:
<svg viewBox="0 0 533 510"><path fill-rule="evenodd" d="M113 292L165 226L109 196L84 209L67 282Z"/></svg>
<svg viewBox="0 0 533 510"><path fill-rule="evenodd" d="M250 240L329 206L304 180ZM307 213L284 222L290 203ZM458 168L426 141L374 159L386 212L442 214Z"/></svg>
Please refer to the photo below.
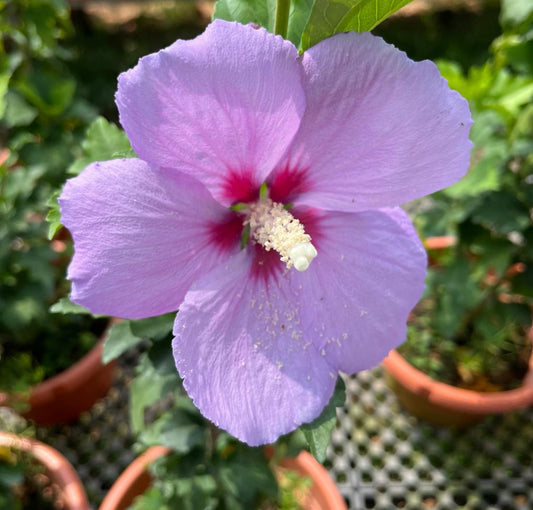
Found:
<svg viewBox="0 0 533 510"><path fill-rule="evenodd" d="M187 412L173 409L160 416L139 436L146 446L162 445L176 453L189 453L206 441L207 428L199 425Z"/></svg>

